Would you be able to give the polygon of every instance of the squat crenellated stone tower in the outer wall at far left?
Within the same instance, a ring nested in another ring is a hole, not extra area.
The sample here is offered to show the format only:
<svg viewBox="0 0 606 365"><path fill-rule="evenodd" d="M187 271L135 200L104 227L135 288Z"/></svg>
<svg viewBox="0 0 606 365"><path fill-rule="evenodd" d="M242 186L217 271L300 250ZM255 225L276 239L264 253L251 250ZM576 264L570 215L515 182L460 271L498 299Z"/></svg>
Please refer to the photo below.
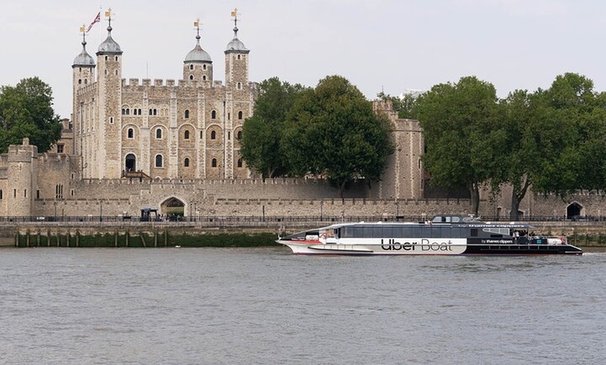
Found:
<svg viewBox="0 0 606 365"><path fill-rule="evenodd" d="M38 147L23 139L20 146L8 146L8 171L6 199L8 215L29 217L32 214L34 189L38 170Z"/></svg>

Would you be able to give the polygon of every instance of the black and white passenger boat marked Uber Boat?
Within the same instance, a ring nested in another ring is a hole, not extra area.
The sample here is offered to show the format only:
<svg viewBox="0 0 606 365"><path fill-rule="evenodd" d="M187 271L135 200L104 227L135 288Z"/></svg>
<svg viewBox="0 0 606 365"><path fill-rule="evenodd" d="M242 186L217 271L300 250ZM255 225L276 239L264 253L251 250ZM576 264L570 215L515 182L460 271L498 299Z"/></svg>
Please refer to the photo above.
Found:
<svg viewBox="0 0 606 365"><path fill-rule="evenodd" d="M545 236L525 223L481 222L440 215L421 223L340 223L310 229L276 242L294 254L349 255L580 255L564 236Z"/></svg>

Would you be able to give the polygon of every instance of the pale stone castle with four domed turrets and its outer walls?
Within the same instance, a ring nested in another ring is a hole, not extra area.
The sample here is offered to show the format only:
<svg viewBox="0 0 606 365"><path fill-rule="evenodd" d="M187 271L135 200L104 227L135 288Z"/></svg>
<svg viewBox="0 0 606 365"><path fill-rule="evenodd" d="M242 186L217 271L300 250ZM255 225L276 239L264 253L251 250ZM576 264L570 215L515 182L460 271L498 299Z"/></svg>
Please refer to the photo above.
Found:
<svg viewBox="0 0 606 365"><path fill-rule="evenodd" d="M39 154L28 139L0 155L0 216L137 217L179 211L201 216L401 216L468 213L467 199L428 199L418 121L398 119L389 102L375 102L394 125L396 153L382 180L338 198L318 179L259 179L239 154L242 123L252 115L257 84L249 80L250 51L238 38L224 50L225 79L215 80L200 45L185 55L182 79L123 79L122 54L112 36L72 65L71 120L61 139ZM185 53L185 52L184 52ZM593 200L592 200L593 199ZM599 200L599 199L598 199ZM601 204L601 205L600 205ZM522 202L527 215L599 215L603 201ZM507 197L484 199L485 215L507 215Z"/></svg>

